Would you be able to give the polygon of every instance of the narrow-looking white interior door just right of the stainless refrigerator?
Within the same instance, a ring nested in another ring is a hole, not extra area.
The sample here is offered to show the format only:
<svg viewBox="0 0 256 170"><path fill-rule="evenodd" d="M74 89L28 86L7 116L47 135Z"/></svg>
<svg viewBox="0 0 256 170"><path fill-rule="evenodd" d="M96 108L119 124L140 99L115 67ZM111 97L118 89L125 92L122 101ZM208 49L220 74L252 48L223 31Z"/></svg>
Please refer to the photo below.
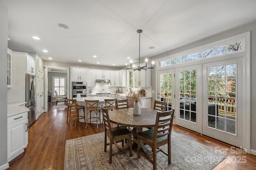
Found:
<svg viewBox="0 0 256 170"><path fill-rule="evenodd" d="M44 112L44 74L38 70L37 78L37 117Z"/></svg>

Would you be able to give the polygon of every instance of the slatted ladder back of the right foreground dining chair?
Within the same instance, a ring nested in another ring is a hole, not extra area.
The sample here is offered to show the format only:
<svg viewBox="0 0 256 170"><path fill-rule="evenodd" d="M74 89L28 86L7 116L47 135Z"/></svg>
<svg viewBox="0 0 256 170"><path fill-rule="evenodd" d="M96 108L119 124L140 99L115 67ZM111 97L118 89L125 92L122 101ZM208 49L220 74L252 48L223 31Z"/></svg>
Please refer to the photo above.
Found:
<svg viewBox="0 0 256 170"><path fill-rule="evenodd" d="M153 141L156 141L157 138L171 134L173 118L174 109L170 111L157 112Z"/></svg>

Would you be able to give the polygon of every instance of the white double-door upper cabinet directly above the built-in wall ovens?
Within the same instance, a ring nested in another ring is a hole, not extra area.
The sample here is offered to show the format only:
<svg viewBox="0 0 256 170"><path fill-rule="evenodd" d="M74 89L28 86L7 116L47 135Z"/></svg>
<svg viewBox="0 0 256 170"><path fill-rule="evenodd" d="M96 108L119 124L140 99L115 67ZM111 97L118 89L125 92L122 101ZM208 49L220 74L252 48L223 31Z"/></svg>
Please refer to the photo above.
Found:
<svg viewBox="0 0 256 170"><path fill-rule="evenodd" d="M71 68L71 81L84 82L87 81L87 68L70 67Z"/></svg>

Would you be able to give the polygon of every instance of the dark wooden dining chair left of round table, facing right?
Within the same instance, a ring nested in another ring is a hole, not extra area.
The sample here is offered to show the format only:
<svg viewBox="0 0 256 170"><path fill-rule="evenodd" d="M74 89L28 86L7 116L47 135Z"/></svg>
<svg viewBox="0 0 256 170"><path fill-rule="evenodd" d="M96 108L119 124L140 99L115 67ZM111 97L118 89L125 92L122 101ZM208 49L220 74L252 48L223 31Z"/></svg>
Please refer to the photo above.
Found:
<svg viewBox="0 0 256 170"><path fill-rule="evenodd" d="M101 106L102 114L103 114L103 121L105 125L105 139L104 139L104 152L107 151L107 145L109 145L109 163L112 163L112 156L116 154L122 154L124 152L130 152L129 156L132 156L132 132L130 132L126 127L119 126L119 127L111 127L110 119L108 116L108 109ZM109 143L107 143L107 137L109 139ZM126 139L129 141L129 146L123 145ZM117 143L122 142L122 147ZM112 144L116 146L118 149L117 152L112 151Z"/></svg>

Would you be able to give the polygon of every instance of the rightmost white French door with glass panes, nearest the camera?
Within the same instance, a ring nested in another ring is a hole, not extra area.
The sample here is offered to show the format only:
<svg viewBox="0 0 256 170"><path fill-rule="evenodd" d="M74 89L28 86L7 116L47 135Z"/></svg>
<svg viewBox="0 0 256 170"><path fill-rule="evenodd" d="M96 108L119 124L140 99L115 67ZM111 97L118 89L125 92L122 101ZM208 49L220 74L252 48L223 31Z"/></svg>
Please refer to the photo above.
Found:
<svg viewBox="0 0 256 170"><path fill-rule="evenodd" d="M244 61L203 64L203 134L245 146Z"/></svg>

